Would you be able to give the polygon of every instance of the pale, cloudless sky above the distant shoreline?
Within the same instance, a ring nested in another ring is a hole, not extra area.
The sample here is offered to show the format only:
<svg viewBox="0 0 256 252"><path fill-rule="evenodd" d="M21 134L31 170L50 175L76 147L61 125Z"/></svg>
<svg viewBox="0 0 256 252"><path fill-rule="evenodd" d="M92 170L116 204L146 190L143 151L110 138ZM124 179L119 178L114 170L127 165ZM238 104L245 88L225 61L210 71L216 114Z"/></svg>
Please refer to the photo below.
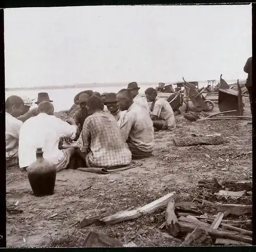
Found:
<svg viewBox="0 0 256 252"><path fill-rule="evenodd" d="M251 5L5 9L5 85L245 79Z"/></svg>

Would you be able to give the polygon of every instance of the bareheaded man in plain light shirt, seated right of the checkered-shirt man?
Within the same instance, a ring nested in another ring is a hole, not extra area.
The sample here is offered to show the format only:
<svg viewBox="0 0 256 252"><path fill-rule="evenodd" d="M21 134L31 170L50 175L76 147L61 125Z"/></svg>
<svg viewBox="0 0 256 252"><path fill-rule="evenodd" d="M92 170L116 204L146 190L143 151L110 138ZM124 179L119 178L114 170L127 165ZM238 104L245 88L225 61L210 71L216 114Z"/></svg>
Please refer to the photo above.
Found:
<svg viewBox="0 0 256 252"><path fill-rule="evenodd" d="M154 146L154 128L150 114L133 102L129 89L121 89L116 98L119 109L127 110L121 119L120 129L132 152L132 159L150 157Z"/></svg>

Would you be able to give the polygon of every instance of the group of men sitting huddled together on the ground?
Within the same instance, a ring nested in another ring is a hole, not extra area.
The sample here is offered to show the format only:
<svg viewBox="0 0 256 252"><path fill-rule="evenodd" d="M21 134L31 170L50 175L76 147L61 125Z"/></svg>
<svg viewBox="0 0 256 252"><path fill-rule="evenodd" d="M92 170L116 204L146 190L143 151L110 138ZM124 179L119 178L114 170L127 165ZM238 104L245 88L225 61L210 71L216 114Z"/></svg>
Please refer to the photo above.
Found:
<svg viewBox="0 0 256 252"><path fill-rule="evenodd" d="M56 170L68 167L118 168L132 159L152 155L154 129L176 127L172 107L147 88L146 99L139 95L138 84L129 83L117 94L100 95L83 91L79 109L63 121L54 116L53 101L47 93L39 93L35 108L18 96L6 100L6 161L18 162L27 169L36 161L36 149ZM39 99L40 98L40 99ZM76 145L60 148L60 140L76 140ZM71 164L72 163L72 164Z"/></svg>

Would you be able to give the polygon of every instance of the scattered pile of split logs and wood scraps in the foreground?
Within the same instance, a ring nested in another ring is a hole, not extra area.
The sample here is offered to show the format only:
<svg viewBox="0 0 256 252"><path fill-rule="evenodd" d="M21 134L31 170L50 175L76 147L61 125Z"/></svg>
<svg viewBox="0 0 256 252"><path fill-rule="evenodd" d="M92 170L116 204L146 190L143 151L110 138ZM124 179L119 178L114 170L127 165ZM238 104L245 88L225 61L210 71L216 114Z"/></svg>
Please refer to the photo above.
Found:
<svg viewBox="0 0 256 252"><path fill-rule="evenodd" d="M245 189L229 191L230 189ZM250 197L248 190L252 189L252 181L226 181L219 183L217 179L199 181L199 188L210 191L209 197L239 200ZM215 193L212 193L215 190ZM205 192L204 192L205 193ZM207 196L207 195L204 195ZM162 209L165 221L156 227L165 238L173 240L177 245L250 245L252 244L252 205L238 203L222 203L209 201L200 197L190 202L176 202L176 192L144 205L143 207L127 209L109 216L93 216L84 219L79 228L96 224L112 225L124 221L135 220L142 215L150 215ZM207 197L206 197L207 198ZM218 200L221 201L221 200ZM89 239L90 238L90 239ZM101 240L101 242L100 242ZM98 245L95 245L95 244ZM94 244L94 245L92 245ZM101 245L100 245L101 244ZM109 244L109 245L106 245ZM89 234L84 246L126 246L113 238L100 234ZM127 246L135 246L130 244Z"/></svg>

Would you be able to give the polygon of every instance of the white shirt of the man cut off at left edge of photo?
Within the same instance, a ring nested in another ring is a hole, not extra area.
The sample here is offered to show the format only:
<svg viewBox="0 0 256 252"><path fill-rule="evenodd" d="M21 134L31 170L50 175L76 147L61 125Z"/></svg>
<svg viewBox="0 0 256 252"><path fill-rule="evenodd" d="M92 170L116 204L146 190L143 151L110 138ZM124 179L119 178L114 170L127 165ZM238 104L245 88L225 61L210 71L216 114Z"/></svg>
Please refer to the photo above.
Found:
<svg viewBox="0 0 256 252"><path fill-rule="evenodd" d="M18 145L19 130L23 122L5 112L5 149L12 150Z"/></svg>

